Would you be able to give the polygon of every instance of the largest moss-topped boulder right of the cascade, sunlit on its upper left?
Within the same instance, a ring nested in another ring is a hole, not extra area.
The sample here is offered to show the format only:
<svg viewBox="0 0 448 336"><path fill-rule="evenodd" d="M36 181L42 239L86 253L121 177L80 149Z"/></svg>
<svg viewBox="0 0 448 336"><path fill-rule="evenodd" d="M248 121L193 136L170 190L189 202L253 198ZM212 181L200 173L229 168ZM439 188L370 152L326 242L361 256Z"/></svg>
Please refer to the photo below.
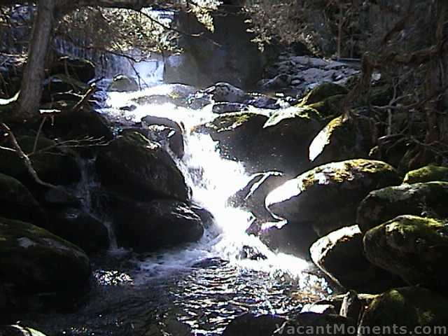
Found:
<svg viewBox="0 0 448 336"><path fill-rule="evenodd" d="M400 182L395 169L385 162L332 162L286 181L267 195L266 205L291 223L313 223L322 237L355 223L358 204L370 191Z"/></svg>

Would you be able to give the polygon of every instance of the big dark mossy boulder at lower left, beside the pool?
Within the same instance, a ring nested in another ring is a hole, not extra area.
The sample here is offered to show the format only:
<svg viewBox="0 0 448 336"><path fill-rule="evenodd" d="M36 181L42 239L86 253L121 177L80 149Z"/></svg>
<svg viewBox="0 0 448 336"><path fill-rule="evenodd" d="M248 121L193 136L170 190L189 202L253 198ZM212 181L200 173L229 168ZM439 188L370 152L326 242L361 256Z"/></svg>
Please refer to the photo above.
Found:
<svg viewBox="0 0 448 336"><path fill-rule="evenodd" d="M21 293L76 291L90 262L77 246L35 225L0 218L0 280Z"/></svg>

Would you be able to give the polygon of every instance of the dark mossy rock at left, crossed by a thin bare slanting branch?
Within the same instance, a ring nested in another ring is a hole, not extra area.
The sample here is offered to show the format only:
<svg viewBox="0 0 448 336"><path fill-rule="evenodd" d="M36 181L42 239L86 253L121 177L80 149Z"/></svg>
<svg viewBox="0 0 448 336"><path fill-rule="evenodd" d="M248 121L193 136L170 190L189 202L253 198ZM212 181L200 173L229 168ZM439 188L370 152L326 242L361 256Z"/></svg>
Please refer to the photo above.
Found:
<svg viewBox="0 0 448 336"><path fill-rule="evenodd" d="M31 164L41 180L61 185L79 181L80 168L73 153L60 150L55 146L55 141L42 136L38 138L36 152L33 153L35 141L36 137L18 138L22 151L29 155ZM34 183L25 164L12 151L0 151L0 172L15 177L26 186Z"/></svg>

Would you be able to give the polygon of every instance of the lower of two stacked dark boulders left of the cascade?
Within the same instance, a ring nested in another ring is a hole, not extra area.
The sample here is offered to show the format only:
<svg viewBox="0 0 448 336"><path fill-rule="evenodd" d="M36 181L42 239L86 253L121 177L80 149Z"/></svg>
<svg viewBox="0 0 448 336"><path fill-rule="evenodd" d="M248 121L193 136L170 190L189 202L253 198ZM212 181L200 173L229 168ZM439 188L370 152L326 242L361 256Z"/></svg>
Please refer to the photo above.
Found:
<svg viewBox="0 0 448 336"><path fill-rule="evenodd" d="M122 204L123 206L123 204ZM134 251L156 251L199 240L204 225L188 204L154 200L116 211L118 244Z"/></svg>

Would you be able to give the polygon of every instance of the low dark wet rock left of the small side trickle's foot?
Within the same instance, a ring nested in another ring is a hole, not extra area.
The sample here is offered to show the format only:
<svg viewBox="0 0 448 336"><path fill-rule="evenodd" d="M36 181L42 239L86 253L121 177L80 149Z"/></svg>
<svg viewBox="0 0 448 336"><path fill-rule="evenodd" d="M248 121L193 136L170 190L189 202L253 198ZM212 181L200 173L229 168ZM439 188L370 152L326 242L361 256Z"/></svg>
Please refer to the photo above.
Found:
<svg viewBox="0 0 448 336"><path fill-rule="evenodd" d="M109 248L109 232L101 221L82 209L50 209L47 230L83 248L87 253L96 253Z"/></svg>

